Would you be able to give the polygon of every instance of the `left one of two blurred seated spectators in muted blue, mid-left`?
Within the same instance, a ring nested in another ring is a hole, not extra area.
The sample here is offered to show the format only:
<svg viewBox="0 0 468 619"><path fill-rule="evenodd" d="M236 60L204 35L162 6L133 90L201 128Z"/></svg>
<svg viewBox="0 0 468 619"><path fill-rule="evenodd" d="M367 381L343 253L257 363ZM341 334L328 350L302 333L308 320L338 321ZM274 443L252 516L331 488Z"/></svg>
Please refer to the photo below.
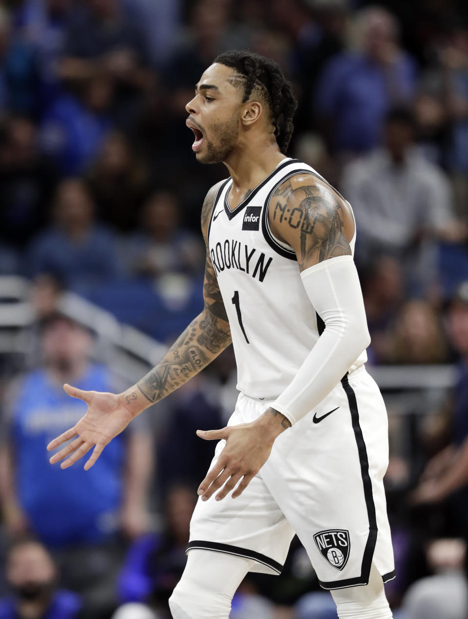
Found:
<svg viewBox="0 0 468 619"><path fill-rule="evenodd" d="M56 191L53 223L30 246L28 274L51 273L85 295L116 278L116 239L111 230L96 224L94 210L83 181L62 181Z"/></svg>

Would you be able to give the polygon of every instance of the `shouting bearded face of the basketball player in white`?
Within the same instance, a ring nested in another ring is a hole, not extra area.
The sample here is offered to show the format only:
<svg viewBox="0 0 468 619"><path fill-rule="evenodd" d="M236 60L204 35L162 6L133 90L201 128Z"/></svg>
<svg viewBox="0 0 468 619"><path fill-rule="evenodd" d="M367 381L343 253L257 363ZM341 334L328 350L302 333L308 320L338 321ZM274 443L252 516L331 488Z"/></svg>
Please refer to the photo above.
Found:
<svg viewBox="0 0 468 619"><path fill-rule="evenodd" d="M252 92L251 100L260 100ZM239 144L241 118L249 110L244 97L242 76L224 64L214 63L203 73L195 97L187 103L187 126L194 131L192 145L200 163L225 162ZM265 101L261 101L263 113ZM249 110L250 114L250 110ZM271 128L273 133L273 128Z"/></svg>

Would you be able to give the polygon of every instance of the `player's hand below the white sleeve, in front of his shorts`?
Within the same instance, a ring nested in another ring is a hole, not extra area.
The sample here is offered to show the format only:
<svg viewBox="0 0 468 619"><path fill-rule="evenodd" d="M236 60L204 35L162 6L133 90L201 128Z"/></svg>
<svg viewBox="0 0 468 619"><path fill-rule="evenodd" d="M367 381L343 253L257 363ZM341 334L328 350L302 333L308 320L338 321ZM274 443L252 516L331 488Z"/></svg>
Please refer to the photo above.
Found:
<svg viewBox="0 0 468 619"><path fill-rule="evenodd" d="M215 497L216 501L220 501L239 482L232 498L240 496L267 461L274 439L283 429L281 426L272 428L260 417L255 422L228 426L221 430L197 430L197 435L205 441L226 439L218 461L198 487L202 501L208 500L221 488Z"/></svg>

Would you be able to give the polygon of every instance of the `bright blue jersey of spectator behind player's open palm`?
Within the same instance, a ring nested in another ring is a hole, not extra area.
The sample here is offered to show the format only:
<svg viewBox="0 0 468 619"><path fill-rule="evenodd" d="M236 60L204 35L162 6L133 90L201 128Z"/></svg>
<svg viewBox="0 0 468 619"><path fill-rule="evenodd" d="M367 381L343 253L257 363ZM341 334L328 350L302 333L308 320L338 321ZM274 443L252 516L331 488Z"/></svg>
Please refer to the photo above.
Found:
<svg viewBox="0 0 468 619"><path fill-rule="evenodd" d="M75 381L80 389L113 391L109 371L91 365ZM48 443L77 423L86 412L70 399L45 370L19 384L11 410L10 435L15 451L17 495L33 531L49 546L101 542L116 528L122 502L124 437L117 436L89 475L83 467L67 472L49 464Z"/></svg>

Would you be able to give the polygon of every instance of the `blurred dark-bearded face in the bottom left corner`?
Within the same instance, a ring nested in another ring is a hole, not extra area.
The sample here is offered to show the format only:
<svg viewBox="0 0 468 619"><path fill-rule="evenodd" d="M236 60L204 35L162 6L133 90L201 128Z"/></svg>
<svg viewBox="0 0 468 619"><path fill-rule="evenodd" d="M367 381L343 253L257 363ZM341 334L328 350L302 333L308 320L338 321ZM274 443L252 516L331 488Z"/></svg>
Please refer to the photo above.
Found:
<svg viewBox="0 0 468 619"><path fill-rule="evenodd" d="M22 599L34 600L48 594L56 581L56 568L46 549L37 542L15 546L7 559L9 585Z"/></svg>

